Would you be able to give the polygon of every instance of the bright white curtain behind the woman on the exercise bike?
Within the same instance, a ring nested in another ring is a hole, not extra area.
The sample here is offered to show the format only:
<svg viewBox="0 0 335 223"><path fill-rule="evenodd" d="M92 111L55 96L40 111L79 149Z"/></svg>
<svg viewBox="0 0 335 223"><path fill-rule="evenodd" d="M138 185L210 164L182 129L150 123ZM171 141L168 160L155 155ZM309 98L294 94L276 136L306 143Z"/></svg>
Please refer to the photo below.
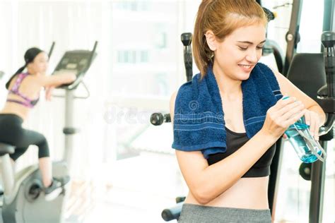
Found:
<svg viewBox="0 0 335 223"><path fill-rule="evenodd" d="M81 128L76 136L74 148L76 177L87 177L102 159L106 147L104 133L106 123L103 119L103 104L108 88L107 76L112 64L110 44L111 4L90 1L5 1L0 3L0 70L6 72L1 80L1 106L6 100L4 83L20 66L23 54L30 47L49 51L56 42L49 62L49 72L57 66L61 56L71 49L92 49L95 40L98 56L86 74L85 83L90 89L87 100L75 103L75 123ZM63 95L63 90L54 94ZM79 88L77 95L83 95ZM54 97L52 102L41 102L30 114L25 127L39 131L47 137L52 159L61 159L64 152L64 99ZM27 154L18 160L18 168L37 162L37 147L30 147ZM93 168L94 167L94 168ZM90 175L91 176L91 175Z"/></svg>

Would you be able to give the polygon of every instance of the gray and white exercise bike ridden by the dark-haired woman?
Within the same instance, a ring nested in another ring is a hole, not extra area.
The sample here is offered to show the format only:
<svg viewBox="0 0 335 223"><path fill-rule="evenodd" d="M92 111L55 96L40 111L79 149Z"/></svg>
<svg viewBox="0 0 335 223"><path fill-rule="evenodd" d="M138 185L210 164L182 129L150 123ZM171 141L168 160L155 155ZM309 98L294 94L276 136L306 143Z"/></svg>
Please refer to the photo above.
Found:
<svg viewBox="0 0 335 223"><path fill-rule="evenodd" d="M65 119L65 156L64 160L52 164L53 176L61 179L69 175L69 164L71 164L71 151L73 150L73 136L78 129L73 126L73 104L74 90L82 83L93 58L96 56L95 42L93 50L74 50L64 54L59 61L54 73L72 72L76 74L76 80L69 85L61 85L59 88L66 90L66 119ZM49 51L52 52L54 44ZM86 88L87 90L87 88ZM87 98L86 97L81 98ZM69 183L63 186L62 193L52 201L46 201L42 193L42 179L40 169L37 165L26 167L18 173L13 172L9 155L15 151L13 145L0 142L1 174L4 182L4 195L1 205L2 221L10 223L40 223L40 222L64 222L64 208L67 195L69 194ZM70 166L71 167L71 166Z"/></svg>

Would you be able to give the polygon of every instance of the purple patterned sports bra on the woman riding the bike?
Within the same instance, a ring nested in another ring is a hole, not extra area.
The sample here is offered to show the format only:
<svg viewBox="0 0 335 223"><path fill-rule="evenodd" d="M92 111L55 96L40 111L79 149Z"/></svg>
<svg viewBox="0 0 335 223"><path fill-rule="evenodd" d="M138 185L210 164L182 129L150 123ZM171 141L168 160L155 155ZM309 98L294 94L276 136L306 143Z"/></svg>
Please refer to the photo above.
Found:
<svg viewBox="0 0 335 223"><path fill-rule="evenodd" d="M36 100L30 100L30 98L28 98L27 96L23 95L21 92L18 91L18 88L20 88L20 84L22 83L23 79L28 75L29 75L28 73L18 74L18 78L16 78L13 88L9 90L9 94L18 95L23 98L23 101L7 99L7 102L22 104L23 106L28 108L33 108L37 104L38 100L40 100L40 97L38 97Z"/></svg>

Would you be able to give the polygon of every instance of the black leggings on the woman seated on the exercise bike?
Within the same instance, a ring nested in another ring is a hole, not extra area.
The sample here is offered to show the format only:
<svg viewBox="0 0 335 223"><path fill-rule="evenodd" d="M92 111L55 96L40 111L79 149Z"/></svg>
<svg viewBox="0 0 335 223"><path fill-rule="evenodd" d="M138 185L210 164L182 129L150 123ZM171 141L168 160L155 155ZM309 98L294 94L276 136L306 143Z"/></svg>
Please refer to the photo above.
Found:
<svg viewBox="0 0 335 223"><path fill-rule="evenodd" d="M23 119L16 114L0 114L0 142L14 145L15 152L9 155L14 161L28 149L37 145L38 158L49 157L47 139L41 133L22 128Z"/></svg>

